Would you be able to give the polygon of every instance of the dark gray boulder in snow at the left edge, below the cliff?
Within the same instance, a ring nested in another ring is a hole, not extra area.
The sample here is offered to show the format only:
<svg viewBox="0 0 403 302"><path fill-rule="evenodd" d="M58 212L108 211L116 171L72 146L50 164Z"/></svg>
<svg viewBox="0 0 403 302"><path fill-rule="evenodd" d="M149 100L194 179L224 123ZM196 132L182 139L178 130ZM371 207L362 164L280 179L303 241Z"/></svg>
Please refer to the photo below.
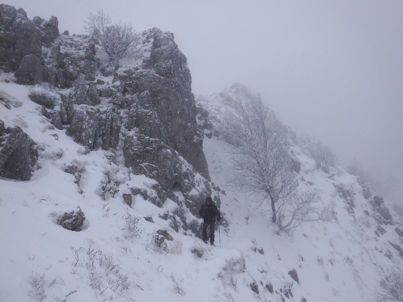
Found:
<svg viewBox="0 0 403 302"><path fill-rule="evenodd" d="M4 128L4 123L2 123ZM0 131L0 175L16 180L30 180L38 161L35 142L20 127Z"/></svg>

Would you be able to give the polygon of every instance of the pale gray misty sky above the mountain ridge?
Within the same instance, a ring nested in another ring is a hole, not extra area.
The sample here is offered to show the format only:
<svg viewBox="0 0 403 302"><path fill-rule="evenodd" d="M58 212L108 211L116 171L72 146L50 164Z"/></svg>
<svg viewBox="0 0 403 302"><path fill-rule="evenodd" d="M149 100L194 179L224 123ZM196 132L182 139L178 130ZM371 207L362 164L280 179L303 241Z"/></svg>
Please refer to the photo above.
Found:
<svg viewBox="0 0 403 302"><path fill-rule="evenodd" d="M340 164L356 158L394 179L394 195L403 195L403 1L3 3L30 19L56 16L61 33L83 33L97 10L139 32L171 31L188 59L194 94L235 82L260 92L283 122L330 146Z"/></svg>

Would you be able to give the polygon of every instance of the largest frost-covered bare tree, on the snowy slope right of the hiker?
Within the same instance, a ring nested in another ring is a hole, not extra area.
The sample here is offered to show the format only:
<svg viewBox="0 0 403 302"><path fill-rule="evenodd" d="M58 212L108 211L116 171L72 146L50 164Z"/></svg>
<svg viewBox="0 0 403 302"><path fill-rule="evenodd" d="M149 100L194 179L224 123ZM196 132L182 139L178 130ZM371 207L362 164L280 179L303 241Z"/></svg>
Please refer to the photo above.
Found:
<svg viewBox="0 0 403 302"><path fill-rule="evenodd" d="M301 194L301 182L293 170L285 127L278 122L263 104L260 95L247 101L236 101L223 128L224 138L233 145L229 150L234 168L234 186L248 192L260 193L270 200L268 212L280 231L291 231L302 221L315 218L317 194ZM323 216L324 217L324 216Z"/></svg>

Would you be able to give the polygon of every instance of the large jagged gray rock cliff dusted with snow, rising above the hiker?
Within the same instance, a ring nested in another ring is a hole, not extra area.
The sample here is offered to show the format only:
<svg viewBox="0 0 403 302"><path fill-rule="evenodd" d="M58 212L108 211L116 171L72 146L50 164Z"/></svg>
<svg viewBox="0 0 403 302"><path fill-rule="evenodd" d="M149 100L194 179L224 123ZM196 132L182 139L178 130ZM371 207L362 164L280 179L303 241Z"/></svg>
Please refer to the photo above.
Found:
<svg viewBox="0 0 403 302"><path fill-rule="evenodd" d="M219 199L219 194L210 183L187 60L172 33L153 28L141 41L135 56L112 63L97 39L60 35L56 17L30 20L23 9L0 5L0 66L14 72L17 83L42 87L29 96L42 106L40 114L86 152L108 150L111 161L128 173L157 181L152 188L157 197L138 188L130 188L132 194L162 206L168 197L178 202L173 188L179 189L185 206L196 213L204 195ZM7 126L0 131L0 174L27 180L38 151L26 133ZM26 137L24 150L30 154L21 161L21 175L10 168L21 159L13 135Z"/></svg>

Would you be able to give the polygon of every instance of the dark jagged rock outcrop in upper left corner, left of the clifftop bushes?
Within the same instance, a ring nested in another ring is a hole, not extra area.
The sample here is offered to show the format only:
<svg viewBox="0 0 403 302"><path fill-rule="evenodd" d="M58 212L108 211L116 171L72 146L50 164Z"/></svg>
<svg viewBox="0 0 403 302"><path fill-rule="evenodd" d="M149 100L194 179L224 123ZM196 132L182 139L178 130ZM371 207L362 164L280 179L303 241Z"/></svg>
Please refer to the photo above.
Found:
<svg viewBox="0 0 403 302"><path fill-rule="evenodd" d="M48 82L65 88L71 87L80 73L87 81L95 80L94 42L87 38L85 49L79 49L78 43L65 41L70 36L64 35L64 40L58 37L56 17L52 16L49 21L40 17L30 20L23 9L0 4L0 53L3 54L0 65L17 71L19 83ZM60 45L64 51L60 50ZM69 49L71 45L75 47L72 50ZM42 47L48 51L42 53Z"/></svg>

